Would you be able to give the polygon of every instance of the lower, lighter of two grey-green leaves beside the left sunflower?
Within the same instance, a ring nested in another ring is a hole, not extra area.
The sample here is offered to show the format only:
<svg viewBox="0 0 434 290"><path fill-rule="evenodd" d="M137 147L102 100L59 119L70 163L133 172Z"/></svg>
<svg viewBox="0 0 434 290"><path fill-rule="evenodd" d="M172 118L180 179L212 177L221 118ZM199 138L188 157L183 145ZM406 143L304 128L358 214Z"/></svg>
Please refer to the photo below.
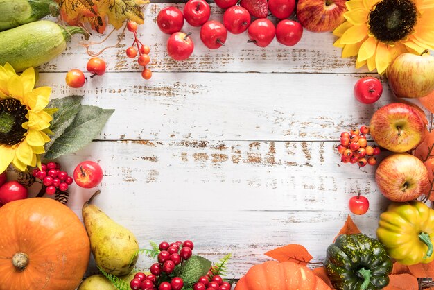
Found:
<svg viewBox="0 0 434 290"><path fill-rule="evenodd" d="M46 159L55 159L83 148L101 133L114 110L103 110L93 105L82 105L76 118L64 133L55 140Z"/></svg>

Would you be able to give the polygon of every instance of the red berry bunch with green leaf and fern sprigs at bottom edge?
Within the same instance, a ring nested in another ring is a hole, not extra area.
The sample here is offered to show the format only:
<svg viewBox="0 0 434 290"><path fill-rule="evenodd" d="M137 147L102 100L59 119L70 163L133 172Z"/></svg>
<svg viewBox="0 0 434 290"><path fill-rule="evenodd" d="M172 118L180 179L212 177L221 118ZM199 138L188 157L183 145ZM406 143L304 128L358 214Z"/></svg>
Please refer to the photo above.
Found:
<svg viewBox="0 0 434 290"><path fill-rule="evenodd" d="M227 255L220 263L211 262L200 256L193 256L194 244L186 240L168 243L162 241L154 250L148 251L157 258L150 266L150 275L136 273L130 281L131 289L152 290L229 290L231 284L219 275L229 260Z"/></svg>

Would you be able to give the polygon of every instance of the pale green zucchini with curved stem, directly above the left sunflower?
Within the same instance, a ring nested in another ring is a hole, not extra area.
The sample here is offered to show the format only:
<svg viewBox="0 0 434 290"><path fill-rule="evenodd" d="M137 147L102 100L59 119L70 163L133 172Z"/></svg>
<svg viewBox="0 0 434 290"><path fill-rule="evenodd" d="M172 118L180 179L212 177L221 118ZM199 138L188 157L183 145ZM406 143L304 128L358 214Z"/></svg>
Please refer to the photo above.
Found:
<svg viewBox="0 0 434 290"><path fill-rule="evenodd" d="M48 20L0 32L0 65L9 62L15 71L42 65L60 55L76 33L87 35L80 27L62 27Z"/></svg>

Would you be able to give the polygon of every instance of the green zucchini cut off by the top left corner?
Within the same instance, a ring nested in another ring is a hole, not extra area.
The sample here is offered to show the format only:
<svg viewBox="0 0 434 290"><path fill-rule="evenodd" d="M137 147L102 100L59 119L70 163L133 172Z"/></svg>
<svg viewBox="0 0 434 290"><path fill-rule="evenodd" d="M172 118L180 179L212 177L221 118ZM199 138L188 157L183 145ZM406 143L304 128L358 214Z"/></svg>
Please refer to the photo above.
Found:
<svg viewBox="0 0 434 290"><path fill-rule="evenodd" d="M34 22L46 15L59 15L53 0L0 0L0 31Z"/></svg>

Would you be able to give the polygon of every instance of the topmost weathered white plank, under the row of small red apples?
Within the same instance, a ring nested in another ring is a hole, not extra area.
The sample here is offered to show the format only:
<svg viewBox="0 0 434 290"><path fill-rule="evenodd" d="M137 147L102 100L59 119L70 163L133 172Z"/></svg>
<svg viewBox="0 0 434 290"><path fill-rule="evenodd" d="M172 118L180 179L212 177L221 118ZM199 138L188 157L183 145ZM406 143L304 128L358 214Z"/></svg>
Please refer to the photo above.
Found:
<svg viewBox="0 0 434 290"><path fill-rule="evenodd" d="M331 33L311 33L304 31L302 40L293 47L279 44L273 40L266 48L260 48L247 43L247 32L241 35L229 33L225 46L216 50L209 50L200 40L200 28L191 27L185 23L183 31L191 32L195 50L189 60L177 62L166 53L166 42L169 35L165 35L156 24L159 10L165 6L175 5L183 8L183 3L151 3L144 8L146 22L139 27L139 39L150 46L152 52L150 69L153 71L259 71L259 72L320 72L320 73L349 73L356 71L354 58L340 58L341 50L333 46L336 41ZM211 19L222 21L223 10L211 3ZM273 19L277 23L276 19ZM107 28L107 33L110 28ZM107 35L94 33L91 40L100 42ZM119 32L120 33L120 32ZM109 44L116 44L118 37L112 35L107 44L96 46L92 51L99 51ZM73 41L62 56L42 65L42 71L68 71L72 68L85 69L89 56L85 48L78 44L80 37L73 37ZM141 68L134 60L127 58L124 51L132 44L132 33L125 35L120 49L107 49L103 58L107 61L109 71L140 71ZM366 72L366 68L359 71Z"/></svg>

